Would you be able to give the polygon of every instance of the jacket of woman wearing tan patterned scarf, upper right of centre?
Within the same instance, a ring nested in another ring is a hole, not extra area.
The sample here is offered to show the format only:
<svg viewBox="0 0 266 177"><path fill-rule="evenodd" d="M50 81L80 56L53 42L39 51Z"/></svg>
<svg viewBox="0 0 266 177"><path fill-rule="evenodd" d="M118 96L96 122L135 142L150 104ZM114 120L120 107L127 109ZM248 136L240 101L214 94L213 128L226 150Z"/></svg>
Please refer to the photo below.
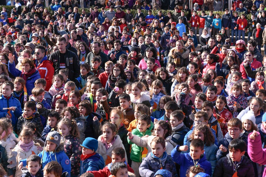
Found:
<svg viewBox="0 0 266 177"><path fill-rule="evenodd" d="M189 50L186 49L185 47L183 47L182 49L184 50L184 52L181 53L181 55L179 55L179 57L180 57L180 67L182 67L182 66L185 66L185 67L186 67L186 66L189 64L189 58L188 58L188 57L189 57ZM172 55L173 55L175 52L176 52L176 47L173 47L173 48L170 50L169 54L168 54L169 59L168 59L167 64L170 63L170 62L174 62L174 63L177 64L177 61L175 61L176 58L172 58Z"/></svg>

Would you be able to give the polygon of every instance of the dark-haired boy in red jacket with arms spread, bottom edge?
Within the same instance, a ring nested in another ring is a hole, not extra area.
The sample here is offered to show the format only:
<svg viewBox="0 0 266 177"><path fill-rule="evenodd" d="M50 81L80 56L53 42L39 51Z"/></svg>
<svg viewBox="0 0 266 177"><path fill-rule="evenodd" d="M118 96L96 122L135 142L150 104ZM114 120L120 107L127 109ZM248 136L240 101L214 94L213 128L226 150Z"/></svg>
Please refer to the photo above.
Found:
<svg viewBox="0 0 266 177"><path fill-rule="evenodd" d="M102 170L90 171L95 177L109 177L111 175L111 167L113 164L125 163L129 172L134 173L133 169L125 161L125 150L123 148L115 148L112 150L112 162L106 165Z"/></svg>

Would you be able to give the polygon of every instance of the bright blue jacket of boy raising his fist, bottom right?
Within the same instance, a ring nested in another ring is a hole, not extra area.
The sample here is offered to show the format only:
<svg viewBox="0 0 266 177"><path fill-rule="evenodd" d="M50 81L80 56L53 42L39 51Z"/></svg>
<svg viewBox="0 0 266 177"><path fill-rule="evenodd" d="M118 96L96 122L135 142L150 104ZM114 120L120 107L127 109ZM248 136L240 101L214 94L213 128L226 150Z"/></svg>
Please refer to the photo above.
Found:
<svg viewBox="0 0 266 177"><path fill-rule="evenodd" d="M189 153L181 154L181 151L178 150L179 145L177 145L171 152L173 161L180 165L180 177L186 176L186 170L194 165L197 161L197 164L204 169L205 173L212 175L212 168L210 162L206 159L205 154L203 154L200 159L193 160Z"/></svg>

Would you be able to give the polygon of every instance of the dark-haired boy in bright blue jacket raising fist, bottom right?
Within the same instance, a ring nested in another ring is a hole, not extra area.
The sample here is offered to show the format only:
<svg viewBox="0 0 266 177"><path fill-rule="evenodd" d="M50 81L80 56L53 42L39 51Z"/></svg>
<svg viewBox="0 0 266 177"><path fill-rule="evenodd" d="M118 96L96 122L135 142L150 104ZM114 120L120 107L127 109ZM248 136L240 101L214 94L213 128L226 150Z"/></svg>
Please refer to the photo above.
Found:
<svg viewBox="0 0 266 177"><path fill-rule="evenodd" d="M189 153L181 154L181 151L188 150L188 146L177 145L171 152L173 161L180 165L180 176L185 177L186 169L191 165L200 165L208 175L211 175L211 164L204 154L204 142L200 139L194 139L191 141L189 149Z"/></svg>

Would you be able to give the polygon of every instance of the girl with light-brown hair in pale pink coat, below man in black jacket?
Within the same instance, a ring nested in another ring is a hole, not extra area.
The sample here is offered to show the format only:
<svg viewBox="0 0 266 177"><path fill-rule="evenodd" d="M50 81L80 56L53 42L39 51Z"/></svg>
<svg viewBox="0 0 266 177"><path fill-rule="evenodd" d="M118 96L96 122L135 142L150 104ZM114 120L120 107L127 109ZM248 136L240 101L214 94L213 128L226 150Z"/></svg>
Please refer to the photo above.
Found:
<svg viewBox="0 0 266 177"><path fill-rule="evenodd" d="M53 85L49 89L49 93L54 96L64 93L65 80L61 74L56 74L53 76Z"/></svg>

